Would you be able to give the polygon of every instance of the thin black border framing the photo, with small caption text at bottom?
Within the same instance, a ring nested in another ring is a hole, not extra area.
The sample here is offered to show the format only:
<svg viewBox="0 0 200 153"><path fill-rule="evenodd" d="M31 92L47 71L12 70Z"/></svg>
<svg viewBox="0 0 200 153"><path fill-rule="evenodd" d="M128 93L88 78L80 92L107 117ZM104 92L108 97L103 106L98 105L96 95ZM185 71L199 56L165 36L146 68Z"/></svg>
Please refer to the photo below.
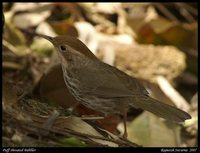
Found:
<svg viewBox="0 0 200 153"><path fill-rule="evenodd" d="M147 0L143 0L143 1L138 1L138 0L135 0L135 1L128 1L128 0L125 0L125 1L106 1L106 0L100 0L100 1L73 1L73 0L68 0L68 1L53 1L53 0L49 0L49 1L28 1L28 0L22 0L22 1L15 1L15 0L2 0L2 2L170 2L170 3L173 3L173 2L189 2L189 3L197 3L198 5L198 0L187 0L187 1L181 1L181 0L176 0L176 1L171 1L171 0L168 0L168 1L147 1ZM199 5L198 5L199 6ZM1 3L1 8L2 8L2 3ZM3 9L2 9L3 11ZM199 11L199 10L198 10ZM2 22L2 20L1 20ZM1 24L2 25L2 24ZM3 26L2 27L2 31L3 31ZM1 32L2 33L2 32ZM1 54L2 56L2 54ZM2 59L2 58L1 58ZM1 63L2 64L2 63ZM1 66L2 68L2 66ZM199 72L199 71L198 71ZM2 72L3 73L3 72ZM199 76L199 74L198 74ZM1 76L2 77L2 76ZM2 94L2 92L1 92ZM1 109L2 110L2 109ZM198 115L199 115L199 112L198 112ZM2 119L2 118L1 118ZM1 122L2 124L2 122ZM2 127L2 126L1 126ZM2 131L3 132L3 131ZM2 135L2 132L1 132L1 135ZM199 140L199 138L198 138ZM15 149L15 151L14 151ZM19 151L19 150L24 150L24 151ZM120 152L120 153L125 153L125 152L132 152L132 153L138 153L138 152L153 152L153 153L156 153L156 152L163 152L163 153L168 153L168 152L199 152L199 148L198 147L140 147L140 148L98 148L98 147L94 147L94 148L88 148L88 147L85 147L85 148L66 148L66 147L60 147L60 148L56 148L56 147L47 147L47 148L41 148L41 147L2 147L2 152L5 152L5 153L10 153L10 152L27 152L25 150L33 150L33 151L29 151L30 153L35 153L35 152L38 152L38 153L44 153L44 152L48 152L48 153L51 153L51 152L57 152L57 153L62 153L62 152L69 152L69 153L74 153L74 152L104 152L104 151L108 151L108 152ZM196 150L196 151L195 151Z"/></svg>

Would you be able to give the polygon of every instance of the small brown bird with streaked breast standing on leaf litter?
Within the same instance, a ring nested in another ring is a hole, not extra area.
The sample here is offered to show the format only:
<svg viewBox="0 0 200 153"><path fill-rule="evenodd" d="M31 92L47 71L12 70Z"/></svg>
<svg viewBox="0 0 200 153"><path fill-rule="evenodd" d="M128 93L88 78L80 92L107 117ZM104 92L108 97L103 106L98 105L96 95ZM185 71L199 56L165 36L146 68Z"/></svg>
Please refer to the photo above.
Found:
<svg viewBox="0 0 200 153"><path fill-rule="evenodd" d="M191 119L188 113L150 97L136 78L100 61L78 38L66 35L50 37L38 33L34 35L53 44L66 88L79 103L105 116L123 116L123 138L127 138L127 112L131 107L149 111L173 122Z"/></svg>

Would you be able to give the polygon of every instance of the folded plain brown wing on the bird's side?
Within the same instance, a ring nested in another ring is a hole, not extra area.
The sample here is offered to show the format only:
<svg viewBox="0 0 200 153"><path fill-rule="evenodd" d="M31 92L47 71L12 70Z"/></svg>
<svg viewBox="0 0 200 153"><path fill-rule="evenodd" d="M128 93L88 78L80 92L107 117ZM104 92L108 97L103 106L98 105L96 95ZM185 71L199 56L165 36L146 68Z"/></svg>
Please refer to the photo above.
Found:
<svg viewBox="0 0 200 153"><path fill-rule="evenodd" d="M79 72L80 87L90 95L111 98L148 94L137 80L102 62L92 62Z"/></svg>

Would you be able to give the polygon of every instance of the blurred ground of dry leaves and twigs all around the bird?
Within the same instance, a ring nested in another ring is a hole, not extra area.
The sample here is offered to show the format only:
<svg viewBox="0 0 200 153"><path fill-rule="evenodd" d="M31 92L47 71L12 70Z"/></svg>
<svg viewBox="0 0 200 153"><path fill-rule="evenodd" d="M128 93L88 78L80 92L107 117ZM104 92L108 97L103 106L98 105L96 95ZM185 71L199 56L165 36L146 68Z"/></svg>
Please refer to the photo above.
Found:
<svg viewBox="0 0 200 153"><path fill-rule="evenodd" d="M197 3L3 3L3 146L197 146L197 12ZM130 109L126 142L117 136L120 116L87 119L99 114L82 105L69 116L76 100L66 94L53 46L27 31L78 37L192 119L176 124ZM41 132L55 110L60 117Z"/></svg>

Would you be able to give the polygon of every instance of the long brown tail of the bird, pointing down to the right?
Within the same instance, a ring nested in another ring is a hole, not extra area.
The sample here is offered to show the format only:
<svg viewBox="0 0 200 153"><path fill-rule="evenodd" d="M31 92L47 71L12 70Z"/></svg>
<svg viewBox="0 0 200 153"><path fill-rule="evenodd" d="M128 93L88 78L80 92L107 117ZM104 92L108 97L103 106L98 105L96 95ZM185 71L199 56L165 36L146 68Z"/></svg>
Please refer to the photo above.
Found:
<svg viewBox="0 0 200 153"><path fill-rule="evenodd" d="M188 113L168 104L159 102L158 100L149 96L134 98L131 100L129 105L135 108L144 109L159 117L175 122L184 122L185 120L191 118Z"/></svg>

